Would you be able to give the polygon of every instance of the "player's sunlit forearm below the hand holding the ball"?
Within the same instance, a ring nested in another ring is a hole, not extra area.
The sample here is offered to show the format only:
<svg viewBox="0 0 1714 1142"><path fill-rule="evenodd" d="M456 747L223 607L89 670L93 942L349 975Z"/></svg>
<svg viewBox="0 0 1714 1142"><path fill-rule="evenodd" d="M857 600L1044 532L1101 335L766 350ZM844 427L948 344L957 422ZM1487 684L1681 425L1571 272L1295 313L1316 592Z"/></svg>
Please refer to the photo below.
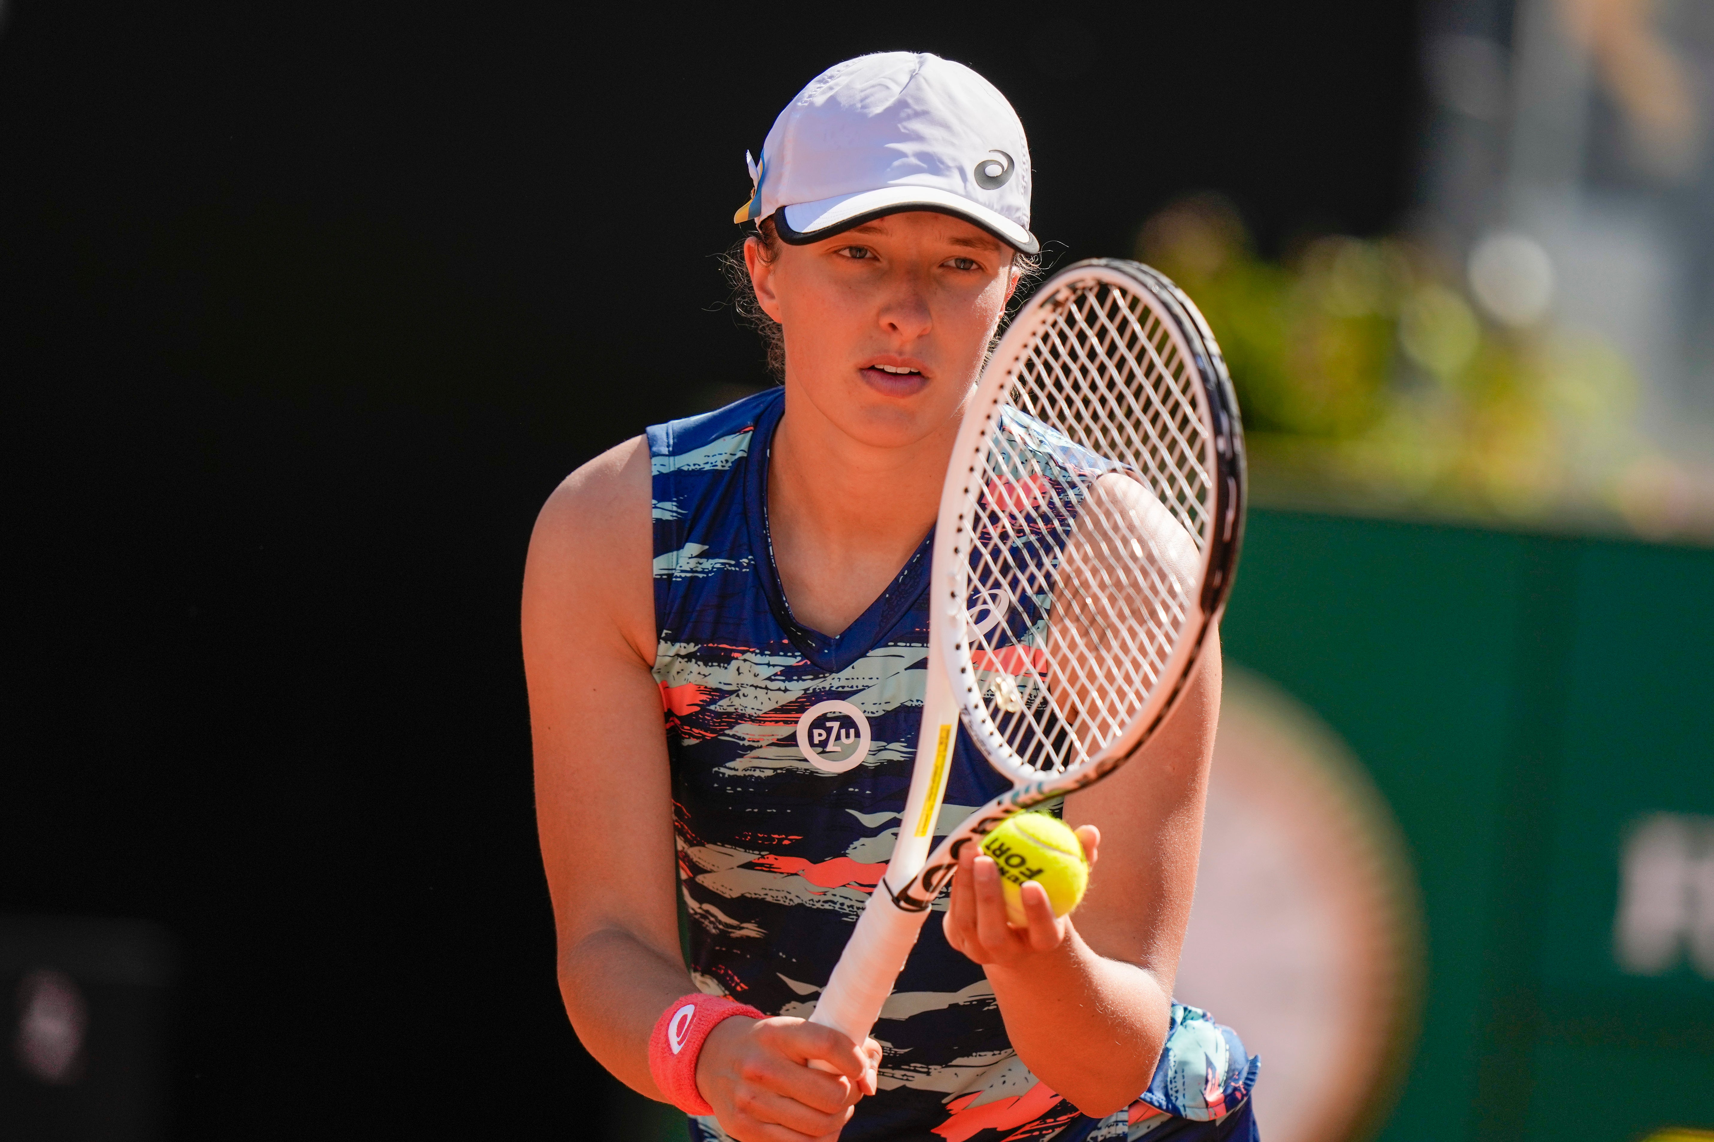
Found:
<svg viewBox="0 0 1714 1142"><path fill-rule="evenodd" d="M1128 1106L1154 1077L1172 1000L1150 972L1097 955L1071 928L1037 962L987 964L1018 1058L1085 1115Z"/></svg>

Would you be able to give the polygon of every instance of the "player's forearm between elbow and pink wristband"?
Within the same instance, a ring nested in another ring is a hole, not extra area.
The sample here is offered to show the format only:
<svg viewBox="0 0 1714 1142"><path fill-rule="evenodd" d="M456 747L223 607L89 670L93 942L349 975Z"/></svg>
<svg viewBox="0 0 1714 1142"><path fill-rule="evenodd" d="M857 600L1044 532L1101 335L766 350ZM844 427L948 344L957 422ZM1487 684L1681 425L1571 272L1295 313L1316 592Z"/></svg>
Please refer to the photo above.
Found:
<svg viewBox="0 0 1714 1142"><path fill-rule="evenodd" d="M648 1038L675 998L694 991L677 949L619 928L590 931L560 954L559 991L583 1046L632 1091L667 1101L648 1068Z"/></svg>

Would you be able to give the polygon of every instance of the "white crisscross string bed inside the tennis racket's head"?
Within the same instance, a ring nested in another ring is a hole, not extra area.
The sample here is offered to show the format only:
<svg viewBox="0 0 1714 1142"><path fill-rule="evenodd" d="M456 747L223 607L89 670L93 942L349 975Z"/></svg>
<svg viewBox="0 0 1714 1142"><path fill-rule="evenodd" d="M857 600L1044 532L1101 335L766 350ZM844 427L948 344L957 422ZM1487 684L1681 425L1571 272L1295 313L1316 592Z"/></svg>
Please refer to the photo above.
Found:
<svg viewBox="0 0 1714 1142"><path fill-rule="evenodd" d="M967 618L970 685L1040 776L1087 764L1160 685L1212 498L1169 324L1107 284L1070 294L996 411L968 520L968 598L989 615ZM994 599L1010 601L998 620Z"/></svg>

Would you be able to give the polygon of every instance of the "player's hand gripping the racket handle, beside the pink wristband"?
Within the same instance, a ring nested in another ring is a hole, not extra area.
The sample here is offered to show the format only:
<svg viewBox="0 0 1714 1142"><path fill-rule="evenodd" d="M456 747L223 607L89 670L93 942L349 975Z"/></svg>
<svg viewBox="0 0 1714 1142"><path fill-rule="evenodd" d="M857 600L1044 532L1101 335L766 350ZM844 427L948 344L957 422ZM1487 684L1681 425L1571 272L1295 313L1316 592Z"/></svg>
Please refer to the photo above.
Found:
<svg viewBox="0 0 1714 1142"><path fill-rule="evenodd" d="M821 1060L833 1074L814 1070ZM876 1091L881 1044L859 1048L802 1019L725 1019L696 1058L696 1087L739 1142L835 1142Z"/></svg>

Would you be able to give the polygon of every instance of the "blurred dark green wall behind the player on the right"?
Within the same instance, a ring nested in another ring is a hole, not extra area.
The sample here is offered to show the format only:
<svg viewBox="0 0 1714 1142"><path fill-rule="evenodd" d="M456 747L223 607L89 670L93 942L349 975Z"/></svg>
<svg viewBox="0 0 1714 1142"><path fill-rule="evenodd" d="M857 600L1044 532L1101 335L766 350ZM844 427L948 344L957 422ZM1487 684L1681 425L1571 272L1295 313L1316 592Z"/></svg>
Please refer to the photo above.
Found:
<svg viewBox="0 0 1714 1142"><path fill-rule="evenodd" d="M1409 842L1426 996L1381 1137L1714 1127L1714 979L1613 954L1627 829L1714 817L1714 551L1256 510L1224 637Z"/></svg>

